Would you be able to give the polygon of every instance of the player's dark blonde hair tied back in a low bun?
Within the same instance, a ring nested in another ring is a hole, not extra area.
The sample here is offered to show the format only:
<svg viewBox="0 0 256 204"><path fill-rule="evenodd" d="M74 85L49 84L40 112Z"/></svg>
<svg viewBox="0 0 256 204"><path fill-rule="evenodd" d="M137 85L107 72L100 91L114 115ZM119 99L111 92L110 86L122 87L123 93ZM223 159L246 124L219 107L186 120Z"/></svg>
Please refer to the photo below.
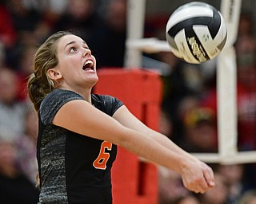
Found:
<svg viewBox="0 0 256 204"><path fill-rule="evenodd" d="M59 31L52 34L38 48L34 55L34 73L30 74L27 82L30 100L34 104L34 109L38 112L42 99L55 88L55 82L47 75L47 71L58 65L57 44L58 40L69 31Z"/></svg>

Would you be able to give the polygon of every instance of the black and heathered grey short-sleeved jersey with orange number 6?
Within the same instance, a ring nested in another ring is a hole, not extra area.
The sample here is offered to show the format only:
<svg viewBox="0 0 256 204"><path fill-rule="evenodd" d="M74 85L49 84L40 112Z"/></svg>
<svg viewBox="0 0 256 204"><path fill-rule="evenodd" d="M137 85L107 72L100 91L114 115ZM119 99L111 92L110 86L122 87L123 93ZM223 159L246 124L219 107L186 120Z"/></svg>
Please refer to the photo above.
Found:
<svg viewBox="0 0 256 204"><path fill-rule="evenodd" d="M92 104L109 116L122 106L122 102L112 96L92 94L91 98ZM75 92L55 89L40 106L39 203L112 203L110 169L117 147L52 124L59 108L70 100L84 99Z"/></svg>

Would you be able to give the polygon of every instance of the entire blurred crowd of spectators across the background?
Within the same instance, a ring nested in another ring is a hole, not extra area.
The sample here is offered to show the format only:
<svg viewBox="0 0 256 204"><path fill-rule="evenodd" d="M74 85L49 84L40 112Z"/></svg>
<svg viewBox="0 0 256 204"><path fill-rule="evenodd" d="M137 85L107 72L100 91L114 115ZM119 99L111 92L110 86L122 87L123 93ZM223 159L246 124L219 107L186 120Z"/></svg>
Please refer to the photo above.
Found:
<svg viewBox="0 0 256 204"><path fill-rule="evenodd" d="M86 40L98 69L119 68L126 48L126 0L0 0L0 203L37 203L38 119L26 94L34 52L51 33L71 30ZM146 18L145 37L164 39L168 15ZM254 22L242 14L235 43L238 150L256 149ZM160 131L186 151L217 152L216 61L189 65L172 53L164 63ZM159 167L159 204L255 204L256 164L212 164L217 186L188 192L178 175Z"/></svg>

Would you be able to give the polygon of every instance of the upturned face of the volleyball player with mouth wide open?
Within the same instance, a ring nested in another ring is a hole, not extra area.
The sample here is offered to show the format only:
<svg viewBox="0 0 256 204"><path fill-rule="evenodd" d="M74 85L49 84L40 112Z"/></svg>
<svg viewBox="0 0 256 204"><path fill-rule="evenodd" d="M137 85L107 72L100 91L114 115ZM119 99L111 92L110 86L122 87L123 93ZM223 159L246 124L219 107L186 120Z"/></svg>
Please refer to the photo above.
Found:
<svg viewBox="0 0 256 204"><path fill-rule="evenodd" d="M57 45L58 65L48 72L59 88L77 91L92 88L98 81L96 60L81 37L66 35Z"/></svg>

